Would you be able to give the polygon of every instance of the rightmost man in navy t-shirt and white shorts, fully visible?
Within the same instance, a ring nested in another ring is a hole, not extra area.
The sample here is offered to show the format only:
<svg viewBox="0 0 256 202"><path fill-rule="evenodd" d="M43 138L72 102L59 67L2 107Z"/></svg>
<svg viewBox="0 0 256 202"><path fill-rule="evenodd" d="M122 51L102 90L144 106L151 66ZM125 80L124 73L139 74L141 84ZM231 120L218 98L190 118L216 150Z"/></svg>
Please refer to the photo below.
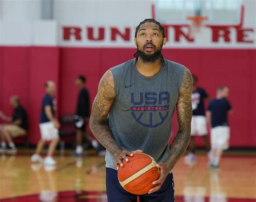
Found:
<svg viewBox="0 0 256 202"><path fill-rule="evenodd" d="M216 98L208 106L207 120L211 128L210 169L219 169L219 161L223 150L228 149L230 127L228 126L228 112L232 112L227 100L228 88L220 86Z"/></svg>

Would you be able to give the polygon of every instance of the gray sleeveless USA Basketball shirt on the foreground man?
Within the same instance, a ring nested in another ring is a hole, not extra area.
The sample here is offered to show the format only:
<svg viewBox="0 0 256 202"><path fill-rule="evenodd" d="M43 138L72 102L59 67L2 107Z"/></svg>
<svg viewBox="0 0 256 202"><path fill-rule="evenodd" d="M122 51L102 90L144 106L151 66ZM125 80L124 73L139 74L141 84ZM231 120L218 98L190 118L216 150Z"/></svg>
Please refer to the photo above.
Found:
<svg viewBox="0 0 256 202"><path fill-rule="evenodd" d="M170 149L172 118L185 67L164 60L158 73L145 77L138 72L136 60L110 69L115 99L109 113L109 127L123 150L142 150L158 163L166 161ZM106 152L106 167L116 162Z"/></svg>

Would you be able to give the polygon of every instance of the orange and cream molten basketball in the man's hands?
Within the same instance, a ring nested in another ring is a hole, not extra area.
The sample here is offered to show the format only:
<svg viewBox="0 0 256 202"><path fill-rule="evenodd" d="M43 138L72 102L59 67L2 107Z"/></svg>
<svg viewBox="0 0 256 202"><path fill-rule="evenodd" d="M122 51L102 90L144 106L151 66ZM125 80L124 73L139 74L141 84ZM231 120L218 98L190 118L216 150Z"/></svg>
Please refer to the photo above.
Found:
<svg viewBox="0 0 256 202"><path fill-rule="evenodd" d="M160 172L157 162L144 153L134 153L127 156L129 161L123 159L123 167L120 167L117 176L121 186L132 194L146 194L154 187L152 184L159 178Z"/></svg>

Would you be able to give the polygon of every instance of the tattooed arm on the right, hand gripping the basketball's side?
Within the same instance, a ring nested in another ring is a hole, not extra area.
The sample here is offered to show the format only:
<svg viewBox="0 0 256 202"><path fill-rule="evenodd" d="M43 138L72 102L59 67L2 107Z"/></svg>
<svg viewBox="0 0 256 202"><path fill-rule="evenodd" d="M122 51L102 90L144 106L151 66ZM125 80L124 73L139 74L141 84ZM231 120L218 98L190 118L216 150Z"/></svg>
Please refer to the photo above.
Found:
<svg viewBox="0 0 256 202"><path fill-rule="evenodd" d="M184 154L191 134L191 119L192 119L192 105L191 95L193 90L192 76L190 71L186 68L184 71L183 82L180 88L179 99L177 102L177 117L179 123L179 130L176 137L172 141L170 155L167 161L160 163L160 178L153 182L156 186L149 191L149 193L156 192L164 183L167 175L178 162L179 158Z"/></svg>

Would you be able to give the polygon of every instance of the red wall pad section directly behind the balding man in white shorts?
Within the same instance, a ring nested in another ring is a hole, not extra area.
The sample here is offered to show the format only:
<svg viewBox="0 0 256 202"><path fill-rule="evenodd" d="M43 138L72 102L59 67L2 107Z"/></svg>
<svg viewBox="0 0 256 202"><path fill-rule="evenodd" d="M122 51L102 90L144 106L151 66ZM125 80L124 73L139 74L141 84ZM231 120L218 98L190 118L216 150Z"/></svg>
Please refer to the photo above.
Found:
<svg viewBox="0 0 256 202"><path fill-rule="evenodd" d="M58 47L31 47L30 74L29 74L29 121L30 143L36 144L40 138L38 119L41 112L42 98L45 94L44 83L47 80L56 82L57 113L60 92L59 88L59 48Z"/></svg>

